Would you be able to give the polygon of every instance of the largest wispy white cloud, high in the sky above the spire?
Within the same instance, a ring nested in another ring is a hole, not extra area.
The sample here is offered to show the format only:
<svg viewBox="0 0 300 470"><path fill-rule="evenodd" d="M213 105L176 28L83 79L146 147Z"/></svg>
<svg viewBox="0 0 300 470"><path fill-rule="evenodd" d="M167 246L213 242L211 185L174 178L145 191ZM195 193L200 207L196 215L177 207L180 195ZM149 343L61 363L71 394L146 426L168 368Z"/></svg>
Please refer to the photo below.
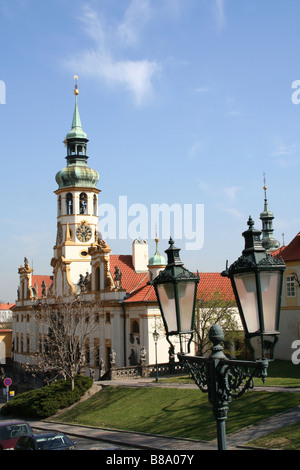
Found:
<svg viewBox="0 0 300 470"><path fill-rule="evenodd" d="M119 59L117 55L137 46L140 30L148 17L148 0L132 0L124 18L114 27L108 27L95 10L85 6L79 20L94 47L65 60L65 66L80 76L124 87L140 105L151 95L153 80L159 75L161 66L147 58Z"/></svg>

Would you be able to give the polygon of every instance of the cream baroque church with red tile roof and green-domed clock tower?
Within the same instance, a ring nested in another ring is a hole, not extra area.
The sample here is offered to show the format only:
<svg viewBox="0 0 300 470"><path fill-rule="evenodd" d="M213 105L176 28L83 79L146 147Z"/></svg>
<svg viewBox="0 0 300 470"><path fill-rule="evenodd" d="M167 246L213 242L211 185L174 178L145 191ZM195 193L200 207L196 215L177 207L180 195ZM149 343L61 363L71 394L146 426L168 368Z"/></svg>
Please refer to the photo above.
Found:
<svg viewBox="0 0 300 470"><path fill-rule="evenodd" d="M153 333L159 333L157 362L169 361L170 345L165 339L162 319L153 286L166 266L158 240L152 257L148 243L135 240L131 255L111 252L99 233L97 188L99 174L88 166L87 134L83 131L75 85L72 127L66 135L66 166L56 174L57 235L51 259L52 275L38 275L27 258L19 268L18 299L13 311L14 363L34 361L43 348L47 332L40 331L35 316L41 302L55 306L68 299L90 303L90 318L96 327L86 338L86 373L97 380L102 370L155 364ZM216 291L233 298L230 281L219 273L200 274L198 290ZM198 292L201 295L200 291ZM101 367L100 367L101 365Z"/></svg>

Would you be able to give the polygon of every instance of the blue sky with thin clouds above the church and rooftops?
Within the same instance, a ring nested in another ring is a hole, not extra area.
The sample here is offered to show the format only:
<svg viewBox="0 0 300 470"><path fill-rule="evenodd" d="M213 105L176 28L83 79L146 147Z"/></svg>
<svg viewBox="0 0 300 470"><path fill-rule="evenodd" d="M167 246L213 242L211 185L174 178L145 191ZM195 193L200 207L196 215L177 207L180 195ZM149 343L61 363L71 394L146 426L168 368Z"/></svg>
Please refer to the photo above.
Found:
<svg viewBox="0 0 300 470"><path fill-rule="evenodd" d="M0 0L0 300L15 300L24 256L52 273L74 74L101 204L204 207L203 247L176 245L187 268L218 272L241 254L249 215L261 228L265 172L274 236L290 242L299 19L298 0ZM107 241L131 252L129 237Z"/></svg>

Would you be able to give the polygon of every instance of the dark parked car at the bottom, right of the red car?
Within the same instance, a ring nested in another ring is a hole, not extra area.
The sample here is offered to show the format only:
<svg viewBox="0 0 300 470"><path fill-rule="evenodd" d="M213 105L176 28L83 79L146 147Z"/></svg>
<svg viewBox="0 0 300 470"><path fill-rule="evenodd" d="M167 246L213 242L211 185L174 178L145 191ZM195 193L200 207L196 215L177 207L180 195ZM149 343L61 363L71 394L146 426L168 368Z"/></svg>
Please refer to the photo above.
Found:
<svg viewBox="0 0 300 470"><path fill-rule="evenodd" d="M74 450L76 442L72 442L62 432L32 433L21 436L15 450Z"/></svg>

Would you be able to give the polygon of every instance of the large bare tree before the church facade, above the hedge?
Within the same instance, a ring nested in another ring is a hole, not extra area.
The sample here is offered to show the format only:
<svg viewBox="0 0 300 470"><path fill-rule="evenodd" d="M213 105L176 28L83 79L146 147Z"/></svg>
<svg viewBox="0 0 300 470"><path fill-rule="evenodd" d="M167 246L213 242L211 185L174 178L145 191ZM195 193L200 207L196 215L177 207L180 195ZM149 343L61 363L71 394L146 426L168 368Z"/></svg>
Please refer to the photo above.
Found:
<svg viewBox="0 0 300 470"><path fill-rule="evenodd" d="M35 318L37 350L27 370L69 378L74 390L75 376L90 361L88 338L98 326L92 314L94 306L79 297L53 305L41 302Z"/></svg>

